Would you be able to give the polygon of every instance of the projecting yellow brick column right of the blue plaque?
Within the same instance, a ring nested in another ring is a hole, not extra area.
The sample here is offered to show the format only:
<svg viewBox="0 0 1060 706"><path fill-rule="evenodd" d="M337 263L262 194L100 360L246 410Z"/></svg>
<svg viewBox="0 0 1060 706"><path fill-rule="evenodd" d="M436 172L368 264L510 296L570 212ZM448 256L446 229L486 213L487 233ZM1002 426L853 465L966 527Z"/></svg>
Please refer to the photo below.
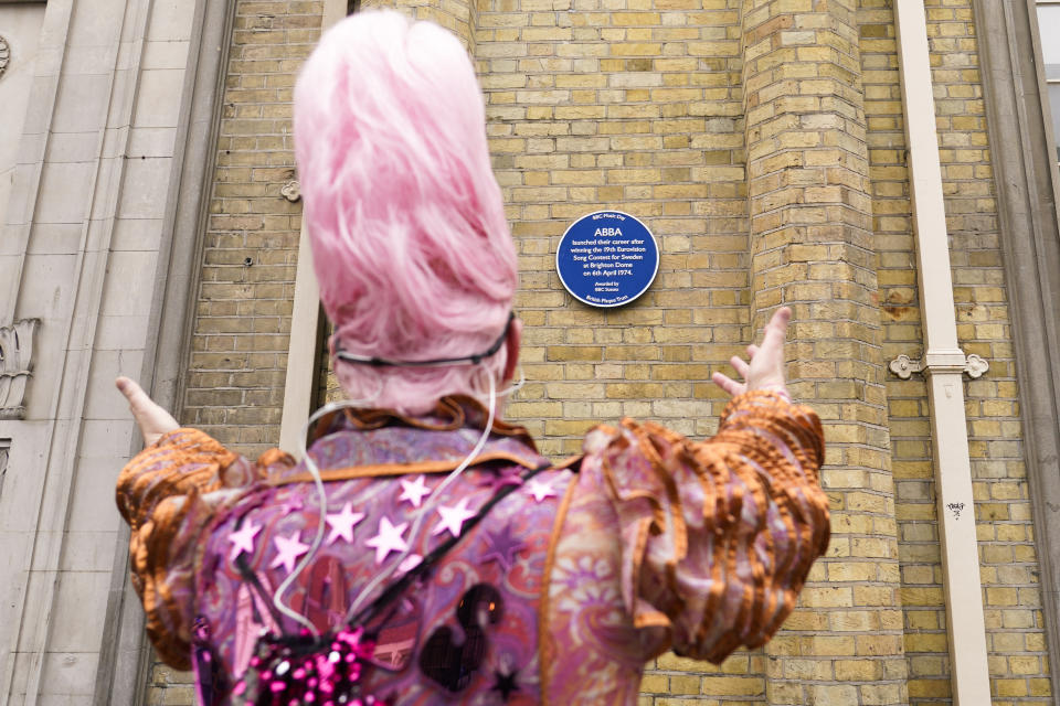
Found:
<svg viewBox="0 0 1060 706"><path fill-rule="evenodd" d="M894 489L856 0L745 0L755 333L792 307L793 395L825 422L833 538L766 646L771 704L901 704Z"/></svg>

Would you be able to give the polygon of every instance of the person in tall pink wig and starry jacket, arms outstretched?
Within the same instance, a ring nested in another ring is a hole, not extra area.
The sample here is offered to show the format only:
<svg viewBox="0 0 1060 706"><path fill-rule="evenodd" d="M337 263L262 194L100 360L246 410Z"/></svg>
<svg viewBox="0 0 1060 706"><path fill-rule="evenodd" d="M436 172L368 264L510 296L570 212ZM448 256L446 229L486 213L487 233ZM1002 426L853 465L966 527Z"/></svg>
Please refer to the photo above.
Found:
<svg viewBox="0 0 1060 706"><path fill-rule="evenodd" d="M213 704L635 704L647 660L722 661L795 606L828 543L820 422L785 387L778 309L712 439L623 419L541 457L500 419L517 259L464 47L365 11L295 92L332 363L349 402L301 461L256 462L117 381L121 471L159 655Z"/></svg>

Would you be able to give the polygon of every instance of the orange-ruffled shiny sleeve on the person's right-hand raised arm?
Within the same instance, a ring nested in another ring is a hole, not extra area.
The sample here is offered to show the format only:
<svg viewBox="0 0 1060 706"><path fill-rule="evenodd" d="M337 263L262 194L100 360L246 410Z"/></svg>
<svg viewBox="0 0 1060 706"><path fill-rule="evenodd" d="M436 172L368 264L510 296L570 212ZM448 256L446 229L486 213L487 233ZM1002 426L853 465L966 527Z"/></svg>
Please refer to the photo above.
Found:
<svg viewBox="0 0 1060 706"><path fill-rule="evenodd" d="M720 663L781 627L828 547L820 420L754 391L704 442L630 419L591 442L618 514L624 599L678 654ZM603 442L603 443L601 443Z"/></svg>

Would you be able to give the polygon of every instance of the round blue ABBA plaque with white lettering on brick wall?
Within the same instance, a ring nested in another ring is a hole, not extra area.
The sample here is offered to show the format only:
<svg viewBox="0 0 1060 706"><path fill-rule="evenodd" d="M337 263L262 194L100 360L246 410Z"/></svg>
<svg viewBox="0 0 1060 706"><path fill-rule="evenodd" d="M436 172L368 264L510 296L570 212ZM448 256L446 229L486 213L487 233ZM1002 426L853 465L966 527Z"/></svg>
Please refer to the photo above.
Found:
<svg viewBox="0 0 1060 706"><path fill-rule="evenodd" d="M651 286L659 271L659 247L647 226L628 213L597 211L563 234L555 269L579 301L621 307Z"/></svg>

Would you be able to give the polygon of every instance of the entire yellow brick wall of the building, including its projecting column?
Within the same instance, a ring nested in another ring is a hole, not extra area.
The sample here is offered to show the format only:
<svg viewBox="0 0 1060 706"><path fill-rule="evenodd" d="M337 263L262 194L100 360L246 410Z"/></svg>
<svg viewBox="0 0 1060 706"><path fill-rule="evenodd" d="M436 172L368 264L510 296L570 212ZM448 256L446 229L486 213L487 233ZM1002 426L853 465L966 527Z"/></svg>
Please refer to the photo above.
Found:
<svg viewBox="0 0 1060 706"><path fill-rule="evenodd" d="M822 413L835 538L776 641L720 667L664 655L642 705L948 700L914 240L890 0L400 0L456 31L486 92L520 257L528 383L508 417L547 453L629 415L693 436L708 383L795 308L793 388ZM1049 700L1019 409L969 0L928 0L967 384L995 703ZM182 420L256 453L278 437L300 207L289 86L319 2L240 2ZM659 242L653 288L593 310L554 269L580 215ZM246 265L246 258L252 264ZM333 383L332 383L333 386ZM190 703L156 670L152 704Z"/></svg>

